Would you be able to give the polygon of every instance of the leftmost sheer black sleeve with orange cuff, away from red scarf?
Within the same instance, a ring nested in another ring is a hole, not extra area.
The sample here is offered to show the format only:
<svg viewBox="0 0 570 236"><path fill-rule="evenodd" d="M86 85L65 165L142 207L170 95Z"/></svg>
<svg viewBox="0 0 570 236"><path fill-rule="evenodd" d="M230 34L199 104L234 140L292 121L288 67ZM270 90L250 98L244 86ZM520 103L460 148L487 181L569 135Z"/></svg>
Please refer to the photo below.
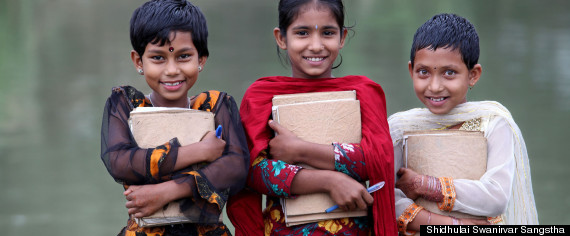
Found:
<svg viewBox="0 0 570 236"><path fill-rule="evenodd" d="M107 99L101 125L101 159L118 183L158 183L172 173L180 145L172 139L156 148L139 148L128 125L131 110L121 91L113 91Z"/></svg>

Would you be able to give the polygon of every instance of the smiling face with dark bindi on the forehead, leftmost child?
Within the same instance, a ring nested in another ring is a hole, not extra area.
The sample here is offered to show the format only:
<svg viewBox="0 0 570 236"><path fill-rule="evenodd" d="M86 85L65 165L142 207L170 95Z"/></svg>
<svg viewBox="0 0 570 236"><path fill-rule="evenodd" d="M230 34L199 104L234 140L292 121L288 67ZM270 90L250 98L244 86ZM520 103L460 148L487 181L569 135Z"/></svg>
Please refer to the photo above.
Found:
<svg viewBox="0 0 570 236"><path fill-rule="evenodd" d="M142 57L135 51L131 58L136 68L143 70L148 86L152 89L154 106L187 107L188 90L192 88L200 68L207 57L199 57L190 32L170 33L170 43L163 46L147 44Z"/></svg>

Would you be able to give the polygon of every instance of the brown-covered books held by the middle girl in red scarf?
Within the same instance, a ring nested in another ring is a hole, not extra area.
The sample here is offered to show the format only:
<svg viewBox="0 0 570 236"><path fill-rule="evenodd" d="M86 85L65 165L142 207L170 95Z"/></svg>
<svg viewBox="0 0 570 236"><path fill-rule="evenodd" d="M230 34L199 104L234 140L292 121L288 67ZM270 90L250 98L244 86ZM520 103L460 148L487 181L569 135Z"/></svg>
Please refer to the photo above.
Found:
<svg viewBox="0 0 570 236"><path fill-rule="evenodd" d="M360 102L356 100L356 91L276 95L272 104L273 119L305 141L360 143L362 139ZM325 213L327 208L335 205L326 193L282 199L281 204L287 226L367 215L365 210L337 209Z"/></svg>

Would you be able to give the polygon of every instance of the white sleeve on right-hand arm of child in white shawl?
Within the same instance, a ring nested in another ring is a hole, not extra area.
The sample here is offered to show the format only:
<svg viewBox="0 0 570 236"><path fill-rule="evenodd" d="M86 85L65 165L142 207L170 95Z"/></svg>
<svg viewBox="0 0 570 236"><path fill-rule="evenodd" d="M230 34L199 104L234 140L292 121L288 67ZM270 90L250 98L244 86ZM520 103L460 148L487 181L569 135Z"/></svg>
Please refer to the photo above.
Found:
<svg viewBox="0 0 570 236"><path fill-rule="evenodd" d="M453 210L494 217L508 206L516 168L515 136L507 121L499 117L489 122L486 133L487 171L479 180L453 180L457 194Z"/></svg>

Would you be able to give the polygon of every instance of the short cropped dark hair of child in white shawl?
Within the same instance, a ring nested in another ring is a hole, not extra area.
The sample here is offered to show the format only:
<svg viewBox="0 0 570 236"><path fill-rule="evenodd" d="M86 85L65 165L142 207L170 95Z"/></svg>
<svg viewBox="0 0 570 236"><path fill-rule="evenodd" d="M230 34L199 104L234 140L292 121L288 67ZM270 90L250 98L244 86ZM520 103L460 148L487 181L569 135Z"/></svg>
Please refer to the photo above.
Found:
<svg viewBox="0 0 570 236"><path fill-rule="evenodd" d="M410 61L414 65L416 52L424 49L459 49L468 69L479 60L479 36L467 19L455 14L438 14L426 21L414 34Z"/></svg>

